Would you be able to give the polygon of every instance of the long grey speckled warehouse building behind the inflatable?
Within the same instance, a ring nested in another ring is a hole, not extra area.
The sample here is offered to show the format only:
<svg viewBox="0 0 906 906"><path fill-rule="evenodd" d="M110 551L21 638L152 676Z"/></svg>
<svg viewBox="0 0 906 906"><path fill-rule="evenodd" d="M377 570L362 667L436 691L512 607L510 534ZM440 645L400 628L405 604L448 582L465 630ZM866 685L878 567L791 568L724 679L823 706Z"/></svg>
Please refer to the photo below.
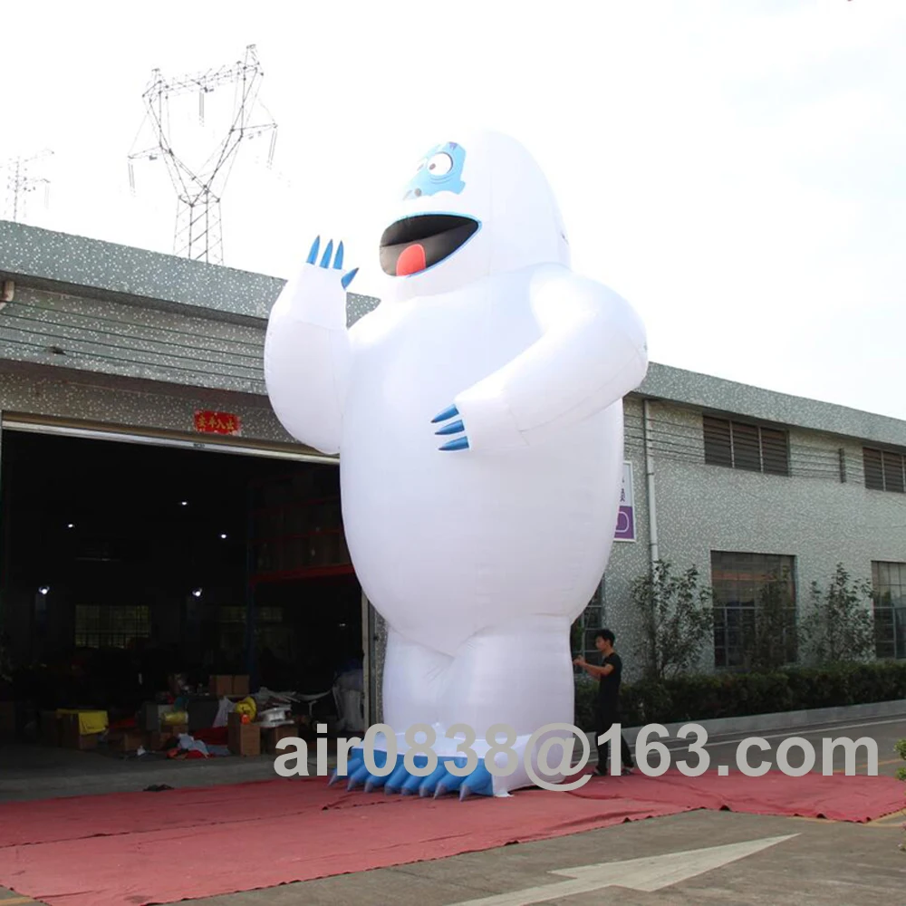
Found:
<svg viewBox="0 0 906 906"><path fill-rule="evenodd" d="M0 633L36 683L115 687L123 708L174 670L315 695L363 657L380 717L384 627L337 460L287 437L265 394L282 284L0 222ZM350 294L350 323L376 302ZM745 666L767 576L786 569L798 604L838 563L882 593L878 655L906 657L906 422L652 364L625 424L584 623L618 633L630 676L631 583L659 558L713 583L713 668Z"/></svg>

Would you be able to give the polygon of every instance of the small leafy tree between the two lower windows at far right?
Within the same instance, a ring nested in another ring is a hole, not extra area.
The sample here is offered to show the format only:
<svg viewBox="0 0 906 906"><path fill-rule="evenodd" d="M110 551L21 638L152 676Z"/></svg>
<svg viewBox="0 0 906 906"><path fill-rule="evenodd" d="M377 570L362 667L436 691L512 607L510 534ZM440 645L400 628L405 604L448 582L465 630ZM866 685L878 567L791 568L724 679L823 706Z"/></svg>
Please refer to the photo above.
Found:
<svg viewBox="0 0 906 906"><path fill-rule="evenodd" d="M851 583L843 564L837 564L826 592L812 583L812 609L804 624L809 656L818 663L871 658L873 597L872 584Z"/></svg>

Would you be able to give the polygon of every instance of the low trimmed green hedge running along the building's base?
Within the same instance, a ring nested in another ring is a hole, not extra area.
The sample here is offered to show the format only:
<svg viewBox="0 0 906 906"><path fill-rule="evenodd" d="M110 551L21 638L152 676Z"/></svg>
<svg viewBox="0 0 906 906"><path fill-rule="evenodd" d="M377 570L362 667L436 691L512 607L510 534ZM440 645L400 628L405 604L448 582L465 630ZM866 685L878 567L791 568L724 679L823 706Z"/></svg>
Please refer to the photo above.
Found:
<svg viewBox="0 0 906 906"><path fill-rule="evenodd" d="M592 679L576 679L575 723L584 730L593 729L596 692ZM641 727L896 699L906 699L906 661L882 660L624 683L620 707L624 727Z"/></svg>

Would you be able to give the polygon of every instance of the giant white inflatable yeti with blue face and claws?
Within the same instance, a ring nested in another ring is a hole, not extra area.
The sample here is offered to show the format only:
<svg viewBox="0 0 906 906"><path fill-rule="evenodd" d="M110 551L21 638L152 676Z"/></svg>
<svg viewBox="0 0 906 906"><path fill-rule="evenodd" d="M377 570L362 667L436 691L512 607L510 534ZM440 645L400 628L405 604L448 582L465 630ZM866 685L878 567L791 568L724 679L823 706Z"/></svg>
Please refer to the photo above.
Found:
<svg viewBox="0 0 906 906"><path fill-rule="evenodd" d="M570 625L610 556L645 331L570 270L553 195L516 141L457 137L401 194L381 241L395 292L347 330L349 275L333 246L320 264L313 248L271 313L265 378L289 433L339 452L352 562L389 626L399 757L381 777L357 753L350 786L501 795L533 785L529 737L573 722ZM430 776L402 765L416 724L437 736ZM471 728L481 759L499 724L516 732L515 771L444 768L463 739L450 728Z"/></svg>

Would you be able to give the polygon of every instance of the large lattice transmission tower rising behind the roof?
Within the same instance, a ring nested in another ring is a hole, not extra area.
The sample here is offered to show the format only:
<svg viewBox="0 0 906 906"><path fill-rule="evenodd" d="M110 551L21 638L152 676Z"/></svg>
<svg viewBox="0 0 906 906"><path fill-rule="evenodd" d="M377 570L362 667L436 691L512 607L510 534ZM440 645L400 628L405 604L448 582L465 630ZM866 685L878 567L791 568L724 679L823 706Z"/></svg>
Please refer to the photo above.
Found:
<svg viewBox="0 0 906 906"><path fill-rule="evenodd" d="M142 99L148 111L145 125L150 125L153 130L154 143L149 148L130 153L129 182L134 193L135 160L163 159L167 165L178 198L173 236L173 251L176 255L188 255L189 258L210 264L223 264L220 202L226 181L236 163L239 145L243 140L270 133L268 168L273 163L277 125L264 104L258 101L258 90L263 77L255 44L246 47L245 60L217 70L173 80L164 79L159 69L151 73L151 82ZM174 149L170 134L170 101L181 95L198 92L198 122L204 125L205 97L227 85L232 85L235 92L232 119L214 152L200 167L193 168L186 152L183 150L178 154ZM139 137L136 138L136 144L138 141Z"/></svg>

